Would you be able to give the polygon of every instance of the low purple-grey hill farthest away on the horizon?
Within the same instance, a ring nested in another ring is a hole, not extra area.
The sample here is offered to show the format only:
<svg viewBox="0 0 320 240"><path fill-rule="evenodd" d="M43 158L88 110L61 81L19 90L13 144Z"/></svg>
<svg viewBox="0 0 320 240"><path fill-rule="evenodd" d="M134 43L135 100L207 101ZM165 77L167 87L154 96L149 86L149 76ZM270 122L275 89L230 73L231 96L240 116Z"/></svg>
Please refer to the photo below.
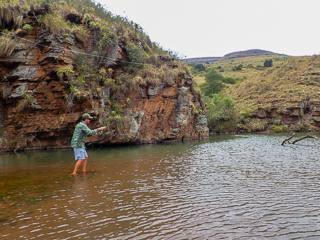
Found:
<svg viewBox="0 0 320 240"><path fill-rule="evenodd" d="M246 51L228 53L223 57L186 58L186 59L183 59L182 61L184 63L206 63L206 62L215 62L215 61L225 60L225 59L262 56L262 55L284 55L284 54L274 53L271 51L266 51L261 49L250 49Z"/></svg>

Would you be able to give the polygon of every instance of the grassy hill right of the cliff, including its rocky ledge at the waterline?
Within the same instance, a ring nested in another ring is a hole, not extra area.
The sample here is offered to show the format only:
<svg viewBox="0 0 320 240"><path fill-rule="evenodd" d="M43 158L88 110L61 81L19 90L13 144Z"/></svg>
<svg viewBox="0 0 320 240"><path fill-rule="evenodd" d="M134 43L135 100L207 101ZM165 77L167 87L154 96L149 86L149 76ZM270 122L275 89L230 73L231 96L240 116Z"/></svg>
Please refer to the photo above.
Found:
<svg viewBox="0 0 320 240"><path fill-rule="evenodd" d="M273 66L264 67L269 59ZM206 71L194 76L198 84L213 69L236 80L218 94L232 99L235 115L228 122L211 124L211 131L320 130L320 56L260 55L204 65Z"/></svg>

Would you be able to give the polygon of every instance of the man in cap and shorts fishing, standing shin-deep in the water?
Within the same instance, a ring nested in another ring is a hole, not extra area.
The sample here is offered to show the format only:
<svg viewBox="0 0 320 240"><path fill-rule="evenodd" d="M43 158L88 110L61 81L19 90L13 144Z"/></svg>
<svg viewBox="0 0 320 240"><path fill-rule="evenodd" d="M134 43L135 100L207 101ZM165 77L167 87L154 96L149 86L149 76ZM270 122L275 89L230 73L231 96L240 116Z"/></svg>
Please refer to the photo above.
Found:
<svg viewBox="0 0 320 240"><path fill-rule="evenodd" d="M86 151L85 141L87 137L96 136L98 131L104 130L106 127L100 127L91 130L88 124L93 119L88 113L82 115L82 121L77 124L71 140L71 147L74 150L75 160L77 161L72 175L77 175L77 171L82 164L82 172L86 172L88 154Z"/></svg>

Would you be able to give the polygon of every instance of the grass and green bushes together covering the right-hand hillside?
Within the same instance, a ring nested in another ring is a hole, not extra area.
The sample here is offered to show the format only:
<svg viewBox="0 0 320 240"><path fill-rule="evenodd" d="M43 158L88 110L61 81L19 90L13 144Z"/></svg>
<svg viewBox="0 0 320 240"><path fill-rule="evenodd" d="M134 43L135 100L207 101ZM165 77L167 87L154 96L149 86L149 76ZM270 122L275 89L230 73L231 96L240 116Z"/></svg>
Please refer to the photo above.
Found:
<svg viewBox="0 0 320 240"><path fill-rule="evenodd" d="M255 116L277 102L279 111L290 100L315 100L320 93L320 56L254 56L189 64L207 104L212 131L287 131L280 119L266 122ZM230 83L226 79L232 79ZM228 103L228 104L226 104ZM225 117L227 116L227 117ZM302 116L304 118L310 116ZM301 125L298 130L312 126Z"/></svg>

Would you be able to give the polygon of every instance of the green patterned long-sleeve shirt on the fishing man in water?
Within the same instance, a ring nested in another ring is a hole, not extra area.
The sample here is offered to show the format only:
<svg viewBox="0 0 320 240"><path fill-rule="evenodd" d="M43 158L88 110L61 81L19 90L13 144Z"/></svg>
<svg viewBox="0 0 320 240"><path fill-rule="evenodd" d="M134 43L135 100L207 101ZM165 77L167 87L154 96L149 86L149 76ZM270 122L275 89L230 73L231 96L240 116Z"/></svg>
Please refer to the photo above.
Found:
<svg viewBox="0 0 320 240"><path fill-rule="evenodd" d="M87 137L92 136L93 134L97 133L99 129L91 130L84 121L81 121L77 124L72 140L71 140L71 147L73 148L86 148L85 141Z"/></svg>

